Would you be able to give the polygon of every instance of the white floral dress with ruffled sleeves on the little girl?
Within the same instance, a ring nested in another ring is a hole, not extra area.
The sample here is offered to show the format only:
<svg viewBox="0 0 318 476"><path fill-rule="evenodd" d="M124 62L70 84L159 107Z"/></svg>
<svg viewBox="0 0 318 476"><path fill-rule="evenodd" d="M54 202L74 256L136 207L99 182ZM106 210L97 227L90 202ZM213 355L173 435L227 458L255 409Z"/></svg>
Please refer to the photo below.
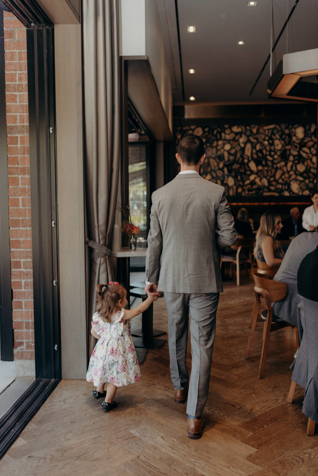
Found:
<svg viewBox="0 0 318 476"><path fill-rule="evenodd" d="M90 357L86 380L96 387L105 382L123 387L140 378L130 323L123 323L123 315L124 309L116 311L111 317L111 324L103 321L97 312L93 315L92 327L100 339Z"/></svg>

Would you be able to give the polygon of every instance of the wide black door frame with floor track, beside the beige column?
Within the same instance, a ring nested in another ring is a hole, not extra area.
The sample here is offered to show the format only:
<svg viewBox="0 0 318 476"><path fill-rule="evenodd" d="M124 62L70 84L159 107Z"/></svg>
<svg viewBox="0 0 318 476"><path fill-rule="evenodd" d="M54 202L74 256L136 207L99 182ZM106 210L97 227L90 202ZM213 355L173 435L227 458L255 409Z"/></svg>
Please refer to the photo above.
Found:
<svg viewBox="0 0 318 476"><path fill-rule="evenodd" d="M61 379L54 25L34 0L3 3L27 29L36 379L0 419L0 458Z"/></svg>

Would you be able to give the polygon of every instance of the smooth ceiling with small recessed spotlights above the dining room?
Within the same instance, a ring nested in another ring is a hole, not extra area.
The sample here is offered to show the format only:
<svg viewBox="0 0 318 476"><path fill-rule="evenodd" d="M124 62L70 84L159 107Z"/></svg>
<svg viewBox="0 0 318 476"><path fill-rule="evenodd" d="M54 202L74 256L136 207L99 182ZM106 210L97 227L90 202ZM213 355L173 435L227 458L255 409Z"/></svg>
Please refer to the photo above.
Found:
<svg viewBox="0 0 318 476"><path fill-rule="evenodd" d="M271 23L274 44L296 0L273 0L272 22L271 0L257 0L255 7L248 0L157 1L175 104L193 104L190 96L196 103L273 102L267 99L270 61L249 92L270 53ZM195 33L187 32L189 25L195 25ZM318 48L317 26L318 0L298 0L272 55L272 71L283 54ZM245 44L237 45L238 40Z"/></svg>

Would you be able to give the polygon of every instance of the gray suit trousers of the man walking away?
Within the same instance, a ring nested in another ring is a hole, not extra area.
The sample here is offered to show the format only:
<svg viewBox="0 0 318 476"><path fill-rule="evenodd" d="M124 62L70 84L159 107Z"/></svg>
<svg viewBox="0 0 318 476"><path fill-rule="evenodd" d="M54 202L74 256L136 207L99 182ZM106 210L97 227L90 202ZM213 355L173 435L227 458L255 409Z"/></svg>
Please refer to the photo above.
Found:
<svg viewBox="0 0 318 476"><path fill-rule="evenodd" d="M200 417L208 398L219 293L164 293L169 333L170 374L175 390L188 392L187 414ZM192 366L186 365L188 328Z"/></svg>

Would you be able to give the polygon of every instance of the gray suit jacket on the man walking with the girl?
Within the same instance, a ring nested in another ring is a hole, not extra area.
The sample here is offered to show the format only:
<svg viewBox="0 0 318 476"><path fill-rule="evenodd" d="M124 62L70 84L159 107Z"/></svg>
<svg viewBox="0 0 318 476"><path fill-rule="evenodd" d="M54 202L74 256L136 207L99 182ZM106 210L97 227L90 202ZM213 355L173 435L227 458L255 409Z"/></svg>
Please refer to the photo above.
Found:
<svg viewBox="0 0 318 476"><path fill-rule="evenodd" d="M221 292L218 247L236 239L224 187L179 174L152 194L146 279L159 291Z"/></svg>

